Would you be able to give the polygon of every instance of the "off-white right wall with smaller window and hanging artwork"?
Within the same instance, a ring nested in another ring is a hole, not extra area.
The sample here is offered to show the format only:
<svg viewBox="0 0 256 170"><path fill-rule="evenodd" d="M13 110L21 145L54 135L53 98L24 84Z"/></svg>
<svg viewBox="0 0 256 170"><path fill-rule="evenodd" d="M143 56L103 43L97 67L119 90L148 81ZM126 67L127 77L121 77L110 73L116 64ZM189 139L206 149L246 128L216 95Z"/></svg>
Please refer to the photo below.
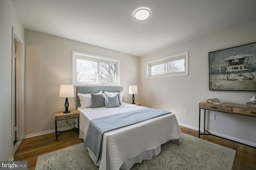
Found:
<svg viewBox="0 0 256 170"><path fill-rule="evenodd" d="M140 59L140 102L144 106L172 111L179 123L198 129L198 103L208 98L222 102L246 104L250 92L210 91L208 53L220 49L256 42L256 20L157 51ZM189 51L189 76L146 79L146 62L168 55ZM256 88L255 88L256 90ZM188 114L183 110L188 109ZM245 140L256 146L256 117L225 113L216 114L209 130ZM202 124L201 124L202 127Z"/></svg>

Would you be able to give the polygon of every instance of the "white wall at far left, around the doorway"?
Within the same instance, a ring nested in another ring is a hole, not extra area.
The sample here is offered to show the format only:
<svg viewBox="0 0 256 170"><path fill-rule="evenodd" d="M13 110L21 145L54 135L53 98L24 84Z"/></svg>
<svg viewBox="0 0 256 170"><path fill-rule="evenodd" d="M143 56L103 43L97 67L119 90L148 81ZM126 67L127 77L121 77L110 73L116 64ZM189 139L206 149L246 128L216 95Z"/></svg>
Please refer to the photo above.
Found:
<svg viewBox="0 0 256 170"><path fill-rule="evenodd" d="M12 132L12 26L24 40L24 28L10 0L0 0L0 160L11 160Z"/></svg>

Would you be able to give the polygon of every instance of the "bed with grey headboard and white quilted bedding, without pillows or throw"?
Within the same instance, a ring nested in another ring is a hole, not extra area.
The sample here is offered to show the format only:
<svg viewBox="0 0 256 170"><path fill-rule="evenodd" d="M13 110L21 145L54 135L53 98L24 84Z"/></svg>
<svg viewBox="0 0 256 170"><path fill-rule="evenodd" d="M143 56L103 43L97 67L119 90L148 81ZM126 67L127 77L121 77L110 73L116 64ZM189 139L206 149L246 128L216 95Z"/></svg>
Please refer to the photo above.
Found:
<svg viewBox="0 0 256 170"><path fill-rule="evenodd" d="M98 92L123 91L122 87L76 87L77 94L96 94ZM100 95L98 95L100 96ZM88 127L91 120L109 115L120 115L129 111L144 111L148 109L143 106L136 106L122 102L120 107L83 107L80 105L80 97L76 96L77 109L80 113L80 133L79 138L86 141L89 134ZM118 96L119 97L119 96ZM92 99L94 100L94 99ZM89 106L89 105L88 105ZM178 121L174 113L166 113L152 119L147 119L139 123L121 127L104 133L102 138L101 156L98 158L94 151L88 148L89 155L94 164L100 170L128 170L135 163L140 163L144 159L152 159L161 151L161 145L179 139L182 136Z"/></svg>

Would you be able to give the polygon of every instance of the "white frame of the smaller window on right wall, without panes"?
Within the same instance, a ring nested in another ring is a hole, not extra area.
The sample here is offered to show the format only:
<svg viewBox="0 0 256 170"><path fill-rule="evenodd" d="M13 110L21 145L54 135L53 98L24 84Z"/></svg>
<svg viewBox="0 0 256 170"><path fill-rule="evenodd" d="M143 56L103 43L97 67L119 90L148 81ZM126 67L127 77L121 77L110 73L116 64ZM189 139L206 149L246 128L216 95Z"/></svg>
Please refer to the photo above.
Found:
<svg viewBox="0 0 256 170"><path fill-rule="evenodd" d="M172 72L172 73L166 73L166 63L171 61L177 61L180 59L185 59L185 70L182 72ZM158 64L164 64L165 70L164 74L157 74L157 75L151 75L151 66L155 66ZM188 76L188 51L169 55L167 57L162 57L159 59L155 59L152 61L146 62L146 79L148 78L164 78L164 77L175 77L175 76Z"/></svg>

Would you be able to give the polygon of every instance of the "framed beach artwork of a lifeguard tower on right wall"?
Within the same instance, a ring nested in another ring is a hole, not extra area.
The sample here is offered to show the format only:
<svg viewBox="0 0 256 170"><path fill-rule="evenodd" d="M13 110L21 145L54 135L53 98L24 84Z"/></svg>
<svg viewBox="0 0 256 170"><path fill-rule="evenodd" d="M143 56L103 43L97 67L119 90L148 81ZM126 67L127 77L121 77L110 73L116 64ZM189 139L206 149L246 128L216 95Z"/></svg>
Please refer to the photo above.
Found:
<svg viewBox="0 0 256 170"><path fill-rule="evenodd" d="M210 52L209 90L256 91L256 43Z"/></svg>

